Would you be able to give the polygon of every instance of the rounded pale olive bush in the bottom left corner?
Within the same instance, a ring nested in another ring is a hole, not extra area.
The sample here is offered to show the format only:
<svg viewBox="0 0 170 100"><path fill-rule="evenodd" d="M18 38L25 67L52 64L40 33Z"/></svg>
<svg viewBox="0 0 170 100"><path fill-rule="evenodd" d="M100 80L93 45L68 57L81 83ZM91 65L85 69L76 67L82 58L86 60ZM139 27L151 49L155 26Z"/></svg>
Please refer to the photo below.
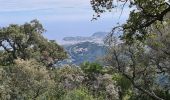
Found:
<svg viewBox="0 0 170 100"><path fill-rule="evenodd" d="M1 74L2 99L36 99L54 87L46 67L34 60L15 60L14 65L1 67Z"/></svg>

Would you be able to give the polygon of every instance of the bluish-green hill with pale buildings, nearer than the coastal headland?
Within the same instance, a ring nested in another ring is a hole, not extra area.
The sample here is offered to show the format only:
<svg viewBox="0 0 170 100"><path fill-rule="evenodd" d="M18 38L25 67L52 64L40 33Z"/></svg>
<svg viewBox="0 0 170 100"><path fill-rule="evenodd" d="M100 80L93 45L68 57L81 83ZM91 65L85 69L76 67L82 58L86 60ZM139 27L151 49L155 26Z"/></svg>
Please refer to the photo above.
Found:
<svg viewBox="0 0 170 100"><path fill-rule="evenodd" d="M94 62L106 53L106 47L93 42L82 42L65 46L70 55L71 63L80 64L84 61Z"/></svg>

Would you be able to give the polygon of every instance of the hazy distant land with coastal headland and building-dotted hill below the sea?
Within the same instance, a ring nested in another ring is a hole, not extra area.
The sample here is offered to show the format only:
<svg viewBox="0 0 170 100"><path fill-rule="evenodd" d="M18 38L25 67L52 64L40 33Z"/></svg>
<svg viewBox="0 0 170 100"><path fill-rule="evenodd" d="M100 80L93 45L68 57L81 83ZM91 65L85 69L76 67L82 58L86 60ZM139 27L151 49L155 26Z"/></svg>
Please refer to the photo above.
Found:
<svg viewBox="0 0 170 100"><path fill-rule="evenodd" d="M96 32L90 37L65 37L63 41L67 41L63 46L69 54L60 64L81 64L84 61L94 62L102 58L107 51L107 47L103 43L103 39L107 35L106 32Z"/></svg>

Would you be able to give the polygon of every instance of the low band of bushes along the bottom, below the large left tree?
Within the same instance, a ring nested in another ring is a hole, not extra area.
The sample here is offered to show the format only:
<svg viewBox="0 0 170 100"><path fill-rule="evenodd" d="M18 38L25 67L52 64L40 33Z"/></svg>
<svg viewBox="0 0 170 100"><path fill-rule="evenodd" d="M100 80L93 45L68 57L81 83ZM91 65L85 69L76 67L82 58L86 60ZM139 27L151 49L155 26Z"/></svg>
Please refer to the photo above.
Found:
<svg viewBox="0 0 170 100"><path fill-rule="evenodd" d="M14 60L0 67L0 99L103 100L118 99L112 75L86 76L80 67L47 70L36 60Z"/></svg>

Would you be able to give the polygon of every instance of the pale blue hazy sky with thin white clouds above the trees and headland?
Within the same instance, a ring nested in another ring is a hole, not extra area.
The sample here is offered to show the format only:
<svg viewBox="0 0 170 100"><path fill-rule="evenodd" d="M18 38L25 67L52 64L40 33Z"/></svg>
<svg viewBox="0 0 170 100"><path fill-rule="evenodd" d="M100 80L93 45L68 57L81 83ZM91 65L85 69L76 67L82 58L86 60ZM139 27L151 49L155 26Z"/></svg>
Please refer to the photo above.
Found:
<svg viewBox="0 0 170 100"><path fill-rule="evenodd" d="M61 40L67 36L90 36L95 32L109 32L116 23L128 18L128 10L120 17L120 10L104 13L91 21L94 11L90 0L0 0L0 27L24 24L38 19L48 39ZM120 18L119 18L120 17Z"/></svg>

